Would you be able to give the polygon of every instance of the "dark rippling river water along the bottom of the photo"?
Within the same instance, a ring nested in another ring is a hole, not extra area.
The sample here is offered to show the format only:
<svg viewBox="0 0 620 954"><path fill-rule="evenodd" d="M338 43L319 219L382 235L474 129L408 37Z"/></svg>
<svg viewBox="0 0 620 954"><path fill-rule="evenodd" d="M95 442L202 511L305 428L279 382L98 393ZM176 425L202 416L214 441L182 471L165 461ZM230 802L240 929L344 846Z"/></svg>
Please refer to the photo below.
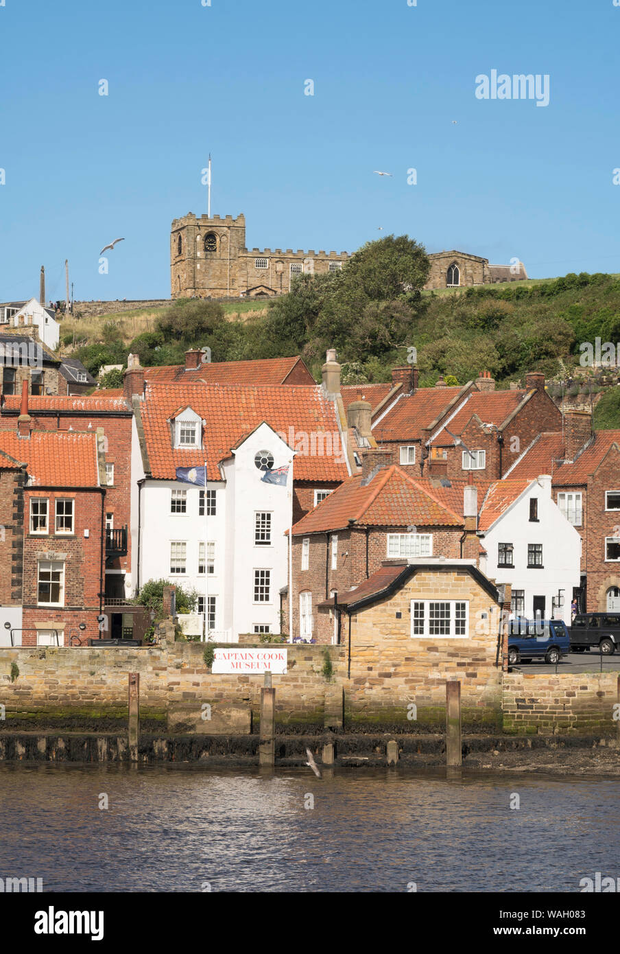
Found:
<svg viewBox="0 0 620 954"><path fill-rule="evenodd" d="M619 848L617 779L0 765L0 878L44 891L575 892Z"/></svg>

